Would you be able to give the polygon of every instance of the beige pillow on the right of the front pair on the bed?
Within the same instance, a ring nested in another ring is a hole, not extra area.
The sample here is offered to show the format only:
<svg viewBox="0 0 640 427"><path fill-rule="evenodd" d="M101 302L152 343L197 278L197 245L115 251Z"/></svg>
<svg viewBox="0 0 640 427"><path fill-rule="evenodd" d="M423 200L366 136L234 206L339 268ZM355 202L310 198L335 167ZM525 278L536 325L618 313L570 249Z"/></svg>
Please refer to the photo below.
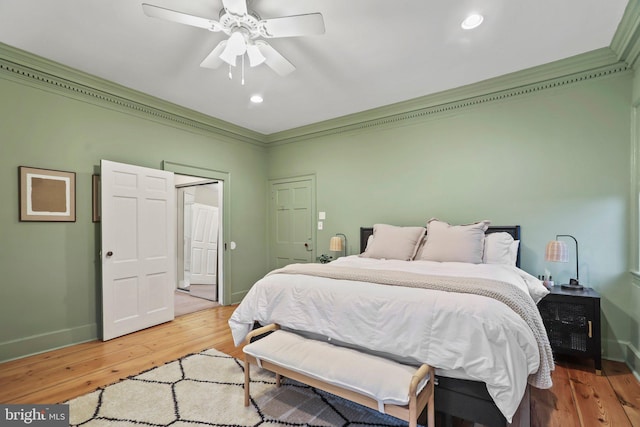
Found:
<svg viewBox="0 0 640 427"><path fill-rule="evenodd" d="M440 262L482 263L484 232L490 221L450 225L437 219L427 223L427 241L420 259Z"/></svg>

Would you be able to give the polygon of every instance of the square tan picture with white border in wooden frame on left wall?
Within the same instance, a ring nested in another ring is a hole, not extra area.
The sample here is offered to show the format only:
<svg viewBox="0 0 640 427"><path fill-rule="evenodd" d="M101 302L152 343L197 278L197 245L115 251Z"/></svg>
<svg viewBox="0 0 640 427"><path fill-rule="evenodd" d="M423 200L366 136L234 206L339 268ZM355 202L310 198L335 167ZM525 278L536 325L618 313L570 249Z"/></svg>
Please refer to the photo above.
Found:
<svg viewBox="0 0 640 427"><path fill-rule="evenodd" d="M29 166L18 171L20 221L76 221L75 172Z"/></svg>

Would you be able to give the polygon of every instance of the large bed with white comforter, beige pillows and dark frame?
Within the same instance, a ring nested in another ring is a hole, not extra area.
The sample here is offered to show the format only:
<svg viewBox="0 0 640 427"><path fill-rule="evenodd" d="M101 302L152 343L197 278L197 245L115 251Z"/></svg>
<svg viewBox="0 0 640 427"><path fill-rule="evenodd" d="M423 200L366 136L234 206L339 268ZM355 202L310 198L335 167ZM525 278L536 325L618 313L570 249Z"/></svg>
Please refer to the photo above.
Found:
<svg viewBox="0 0 640 427"><path fill-rule="evenodd" d="M361 228L360 256L269 273L229 320L236 345L254 322L278 323L306 337L402 363L429 363L437 368L436 410L489 426L507 425L520 415L521 406L528 409L521 405L528 384L551 386L553 358L535 307L546 289L518 268L519 245L515 252L513 244L509 246L512 265L451 262L446 261L447 251L456 257L464 251L452 246L455 235L445 233L446 239L436 248L436 255L445 261L433 261L433 245L442 237L436 225L445 230L467 227L430 221L426 238L416 235L413 253L402 259L406 251L400 256L386 252L396 247L396 240L389 244L383 230L397 237L399 232L419 233L419 227L398 231L376 224ZM471 228L476 234L482 231L486 253L485 245L496 240L488 237L493 233L508 234L512 242L520 240L518 226L488 227L486 221ZM398 247L406 243L411 252L411 239L397 242ZM375 248L382 252L376 254ZM475 247L470 254L477 256L477 251ZM429 283L423 284L425 280ZM494 287L504 288L519 302L488 295Z"/></svg>

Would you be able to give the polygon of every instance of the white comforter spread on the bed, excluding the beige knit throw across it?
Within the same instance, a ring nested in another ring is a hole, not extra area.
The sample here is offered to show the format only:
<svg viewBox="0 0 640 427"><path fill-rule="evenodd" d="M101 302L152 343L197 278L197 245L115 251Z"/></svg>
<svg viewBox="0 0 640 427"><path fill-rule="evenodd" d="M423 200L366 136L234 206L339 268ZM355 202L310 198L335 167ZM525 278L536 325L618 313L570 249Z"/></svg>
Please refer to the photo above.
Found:
<svg viewBox="0 0 640 427"><path fill-rule="evenodd" d="M331 264L500 280L532 294L536 302L546 291L534 277L504 265L358 256ZM276 274L259 280L229 319L236 345L254 321L321 334L483 381L508 421L540 363L536 340L522 318L479 295Z"/></svg>

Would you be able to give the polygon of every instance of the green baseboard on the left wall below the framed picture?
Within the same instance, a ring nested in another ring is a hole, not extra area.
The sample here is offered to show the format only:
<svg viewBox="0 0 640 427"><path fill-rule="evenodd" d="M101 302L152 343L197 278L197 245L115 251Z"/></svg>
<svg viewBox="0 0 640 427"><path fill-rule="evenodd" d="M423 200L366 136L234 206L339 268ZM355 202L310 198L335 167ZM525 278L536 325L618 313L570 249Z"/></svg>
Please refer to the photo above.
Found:
<svg viewBox="0 0 640 427"><path fill-rule="evenodd" d="M98 337L98 325L91 323L0 343L0 362L20 359L58 348L68 347Z"/></svg>

